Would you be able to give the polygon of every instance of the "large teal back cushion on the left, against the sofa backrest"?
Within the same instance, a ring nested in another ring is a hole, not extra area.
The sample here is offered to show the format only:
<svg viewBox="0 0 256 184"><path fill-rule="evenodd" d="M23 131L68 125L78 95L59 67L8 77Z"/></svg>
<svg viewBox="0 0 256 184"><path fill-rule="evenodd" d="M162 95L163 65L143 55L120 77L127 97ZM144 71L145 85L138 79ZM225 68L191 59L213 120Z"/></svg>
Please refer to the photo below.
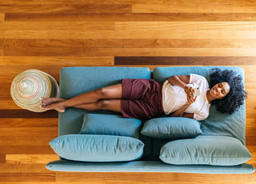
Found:
<svg viewBox="0 0 256 184"><path fill-rule="evenodd" d="M50 146L60 157L81 162L124 162L142 157L144 144L114 135L69 134L54 138Z"/></svg>

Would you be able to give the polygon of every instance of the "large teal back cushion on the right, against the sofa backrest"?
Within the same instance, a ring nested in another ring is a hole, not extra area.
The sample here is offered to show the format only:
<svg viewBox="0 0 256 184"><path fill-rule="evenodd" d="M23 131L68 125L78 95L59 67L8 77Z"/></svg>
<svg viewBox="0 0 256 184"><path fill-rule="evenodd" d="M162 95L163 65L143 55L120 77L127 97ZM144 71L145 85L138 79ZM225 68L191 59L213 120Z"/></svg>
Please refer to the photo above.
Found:
<svg viewBox="0 0 256 184"><path fill-rule="evenodd" d="M250 160L251 155L237 138L202 135L167 143L159 158L177 165L235 166Z"/></svg>

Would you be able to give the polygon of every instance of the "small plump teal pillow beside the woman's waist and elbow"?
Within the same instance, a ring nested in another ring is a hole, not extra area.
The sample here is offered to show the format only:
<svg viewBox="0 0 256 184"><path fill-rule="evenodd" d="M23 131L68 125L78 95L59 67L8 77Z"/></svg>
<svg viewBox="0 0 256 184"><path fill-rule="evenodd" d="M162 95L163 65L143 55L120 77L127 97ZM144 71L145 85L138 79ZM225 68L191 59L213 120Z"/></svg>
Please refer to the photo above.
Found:
<svg viewBox="0 0 256 184"><path fill-rule="evenodd" d="M141 133L152 138L194 138L202 134L200 123L192 118L154 118L145 122Z"/></svg>

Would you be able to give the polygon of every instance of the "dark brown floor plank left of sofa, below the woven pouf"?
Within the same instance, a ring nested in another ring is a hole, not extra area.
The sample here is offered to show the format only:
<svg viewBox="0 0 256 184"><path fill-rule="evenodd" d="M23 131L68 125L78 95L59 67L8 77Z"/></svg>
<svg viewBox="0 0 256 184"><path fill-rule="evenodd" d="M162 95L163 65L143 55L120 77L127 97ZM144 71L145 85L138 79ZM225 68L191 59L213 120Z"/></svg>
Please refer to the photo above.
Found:
<svg viewBox="0 0 256 184"><path fill-rule="evenodd" d="M58 112L55 110L42 113L34 113L29 110L0 110L0 118L58 118Z"/></svg>

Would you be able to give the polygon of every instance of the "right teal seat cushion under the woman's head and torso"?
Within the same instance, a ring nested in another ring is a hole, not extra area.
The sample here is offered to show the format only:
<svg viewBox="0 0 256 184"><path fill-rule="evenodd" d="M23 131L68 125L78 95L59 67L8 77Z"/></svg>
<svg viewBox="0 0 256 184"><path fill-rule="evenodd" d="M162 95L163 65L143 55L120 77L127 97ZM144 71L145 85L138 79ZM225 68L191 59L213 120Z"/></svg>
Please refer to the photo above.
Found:
<svg viewBox="0 0 256 184"><path fill-rule="evenodd" d="M214 68L220 70L234 70L240 74L244 82L244 70L236 66L186 66L186 67L157 67L154 69L154 79L164 82L171 75L200 74L210 80L210 74ZM238 138L243 145L246 143L246 104L239 107L234 114L222 114L216 110L216 106L210 106L210 115L202 120L202 135L222 135Z"/></svg>

